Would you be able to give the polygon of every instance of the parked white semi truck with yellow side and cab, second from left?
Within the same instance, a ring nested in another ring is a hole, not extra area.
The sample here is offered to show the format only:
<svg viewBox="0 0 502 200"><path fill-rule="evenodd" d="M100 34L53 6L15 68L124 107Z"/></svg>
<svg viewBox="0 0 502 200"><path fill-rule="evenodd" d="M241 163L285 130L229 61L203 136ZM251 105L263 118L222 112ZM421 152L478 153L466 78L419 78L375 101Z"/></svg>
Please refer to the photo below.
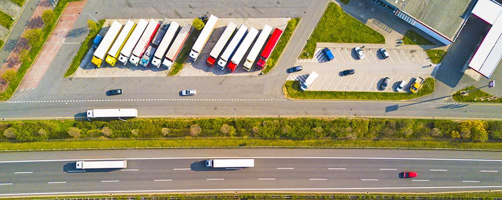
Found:
<svg viewBox="0 0 502 200"><path fill-rule="evenodd" d="M131 33L133 33L135 27L136 23L134 21L127 20L126 24L118 34L117 39L115 39L115 42L113 43L113 45L111 45L110 51L108 51L108 55L106 55L105 61L110 66L115 66L115 62L118 59L118 55L120 55L120 51L131 36Z"/></svg>

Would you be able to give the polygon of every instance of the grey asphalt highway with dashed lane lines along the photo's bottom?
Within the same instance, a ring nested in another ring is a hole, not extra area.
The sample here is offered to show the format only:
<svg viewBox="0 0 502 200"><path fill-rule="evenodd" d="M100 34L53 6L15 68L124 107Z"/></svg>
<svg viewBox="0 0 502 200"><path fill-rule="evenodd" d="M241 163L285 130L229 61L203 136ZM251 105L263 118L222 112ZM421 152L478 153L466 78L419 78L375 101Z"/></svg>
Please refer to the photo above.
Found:
<svg viewBox="0 0 502 200"><path fill-rule="evenodd" d="M255 167L206 168L208 158ZM381 149L158 149L0 154L0 196L209 191L438 192L500 190L499 151ZM497 159L498 158L498 159ZM117 170L77 160L127 159ZM417 171L416 178L401 178Z"/></svg>

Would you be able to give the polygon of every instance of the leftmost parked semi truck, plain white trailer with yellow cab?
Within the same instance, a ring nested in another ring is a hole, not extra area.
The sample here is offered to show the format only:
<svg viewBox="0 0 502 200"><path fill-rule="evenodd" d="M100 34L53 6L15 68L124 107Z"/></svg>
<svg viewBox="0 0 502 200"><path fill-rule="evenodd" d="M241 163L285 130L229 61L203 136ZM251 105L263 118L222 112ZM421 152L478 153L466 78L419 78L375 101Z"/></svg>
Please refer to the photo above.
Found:
<svg viewBox="0 0 502 200"><path fill-rule="evenodd" d="M94 65L96 65L97 67L101 66L104 59L106 58L106 54L111 48L111 44L113 44L121 29L122 24L120 24L118 21L113 21L110 28L101 40L101 43L99 43L99 46L97 46L96 51L94 51L91 59L91 62Z"/></svg>

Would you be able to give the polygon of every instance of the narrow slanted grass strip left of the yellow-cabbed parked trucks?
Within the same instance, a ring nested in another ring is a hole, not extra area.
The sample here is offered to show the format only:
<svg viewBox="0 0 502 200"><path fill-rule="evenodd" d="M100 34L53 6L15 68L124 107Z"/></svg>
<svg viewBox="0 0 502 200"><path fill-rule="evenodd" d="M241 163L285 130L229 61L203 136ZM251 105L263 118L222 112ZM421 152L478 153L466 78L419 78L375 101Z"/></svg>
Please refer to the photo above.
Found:
<svg viewBox="0 0 502 200"><path fill-rule="evenodd" d="M68 77L75 73L75 71L77 71L80 63L82 62L82 59L84 59L85 57L85 54L87 54L89 49L92 47L92 40L94 40L94 37L97 35L101 27L103 27L103 24L104 19L101 19L97 23L96 30L89 30L89 34L87 35L87 37L85 37L75 57L73 57L70 66L68 67L68 69L66 69L64 77Z"/></svg>

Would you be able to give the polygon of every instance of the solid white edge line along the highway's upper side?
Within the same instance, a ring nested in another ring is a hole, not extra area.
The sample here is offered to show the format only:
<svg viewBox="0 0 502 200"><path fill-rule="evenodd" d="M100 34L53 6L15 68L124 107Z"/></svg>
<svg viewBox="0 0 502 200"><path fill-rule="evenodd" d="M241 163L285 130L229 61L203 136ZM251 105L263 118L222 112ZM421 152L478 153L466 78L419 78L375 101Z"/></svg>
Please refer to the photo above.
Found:
<svg viewBox="0 0 502 200"><path fill-rule="evenodd" d="M424 158L424 157L322 157L322 156L247 156L247 157L120 157L120 158L86 158L86 159L40 159L40 160L10 160L0 161L0 163L18 162L54 162L54 161L76 161L76 160L159 160L159 159L234 159L234 158L255 158L255 159L377 159L377 160L441 160L441 161L489 161L502 162L502 159L469 159L469 158ZM432 169L431 169L432 170ZM437 169L434 169L437 170ZM447 170L447 169L442 169Z"/></svg>

